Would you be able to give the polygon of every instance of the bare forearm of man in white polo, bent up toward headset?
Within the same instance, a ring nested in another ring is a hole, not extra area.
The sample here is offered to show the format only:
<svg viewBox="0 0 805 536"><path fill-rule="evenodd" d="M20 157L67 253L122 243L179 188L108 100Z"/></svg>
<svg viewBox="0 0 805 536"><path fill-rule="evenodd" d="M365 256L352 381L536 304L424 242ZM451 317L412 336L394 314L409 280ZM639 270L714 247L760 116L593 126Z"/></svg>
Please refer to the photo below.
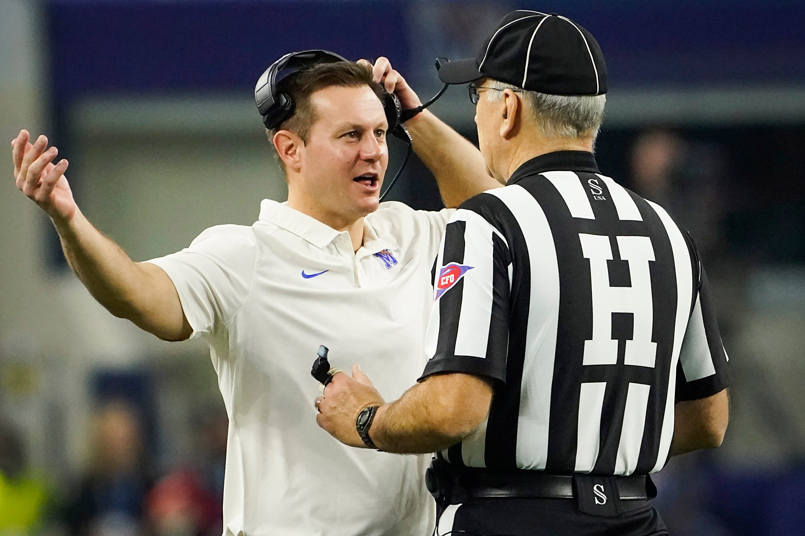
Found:
<svg viewBox="0 0 805 536"><path fill-rule="evenodd" d="M455 208L501 186L486 172L481 151L427 109L411 118L406 128L416 154L436 177L446 207Z"/></svg>

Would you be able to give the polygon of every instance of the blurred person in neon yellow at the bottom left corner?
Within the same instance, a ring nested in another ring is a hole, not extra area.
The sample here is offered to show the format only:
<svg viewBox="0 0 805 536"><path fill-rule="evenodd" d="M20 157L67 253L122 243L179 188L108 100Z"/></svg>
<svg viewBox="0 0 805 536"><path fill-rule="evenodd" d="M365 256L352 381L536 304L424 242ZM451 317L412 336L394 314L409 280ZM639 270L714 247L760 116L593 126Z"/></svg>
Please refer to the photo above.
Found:
<svg viewBox="0 0 805 536"><path fill-rule="evenodd" d="M0 535L38 534L48 502L47 484L28 467L19 435L0 423Z"/></svg>

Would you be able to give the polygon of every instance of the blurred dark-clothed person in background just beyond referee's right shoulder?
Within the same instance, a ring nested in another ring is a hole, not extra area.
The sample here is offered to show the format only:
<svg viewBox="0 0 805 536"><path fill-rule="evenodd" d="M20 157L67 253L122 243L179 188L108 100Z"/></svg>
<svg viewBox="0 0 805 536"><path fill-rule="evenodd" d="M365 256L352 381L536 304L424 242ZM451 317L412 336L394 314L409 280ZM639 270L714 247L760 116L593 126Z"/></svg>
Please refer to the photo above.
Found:
<svg viewBox="0 0 805 536"><path fill-rule="evenodd" d="M630 156L634 192L666 208L691 233L703 258L720 256L725 173L720 150L654 128L638 135Z"/></svg>

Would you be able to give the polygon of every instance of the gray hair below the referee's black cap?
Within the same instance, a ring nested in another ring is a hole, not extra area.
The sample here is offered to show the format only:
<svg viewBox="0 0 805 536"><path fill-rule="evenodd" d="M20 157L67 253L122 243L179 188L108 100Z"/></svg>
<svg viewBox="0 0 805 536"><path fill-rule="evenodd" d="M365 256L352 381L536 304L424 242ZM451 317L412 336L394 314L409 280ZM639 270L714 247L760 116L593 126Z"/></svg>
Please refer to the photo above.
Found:
<svg viewBox="0 0 805 536"><path fill-rule="evenodd" d="M595 139L604 122L606 95L548 95L492 78L487 80L490 88L500 90L487 92L487 101L501 101L504 89L517 90L539 124L539 130L548 138L582 138L592 134Z"/></svg>

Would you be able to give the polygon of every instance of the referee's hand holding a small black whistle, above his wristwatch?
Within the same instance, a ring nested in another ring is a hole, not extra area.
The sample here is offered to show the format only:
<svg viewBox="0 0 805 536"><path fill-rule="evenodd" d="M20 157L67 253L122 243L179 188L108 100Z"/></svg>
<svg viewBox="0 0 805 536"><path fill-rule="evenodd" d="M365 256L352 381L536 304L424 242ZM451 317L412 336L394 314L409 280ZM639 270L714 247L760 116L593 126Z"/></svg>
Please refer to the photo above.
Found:
<svg viewBox="0 0 805 536"><path fill-rule="evenodd" d="M336 373L324 388L324 397L314 402L319 410L316 423L332 437L349 447L368 448L355 429L357 414L366 406L382 406L382 396L372 385L359 365L353 365L353 375Z"/></svg>

